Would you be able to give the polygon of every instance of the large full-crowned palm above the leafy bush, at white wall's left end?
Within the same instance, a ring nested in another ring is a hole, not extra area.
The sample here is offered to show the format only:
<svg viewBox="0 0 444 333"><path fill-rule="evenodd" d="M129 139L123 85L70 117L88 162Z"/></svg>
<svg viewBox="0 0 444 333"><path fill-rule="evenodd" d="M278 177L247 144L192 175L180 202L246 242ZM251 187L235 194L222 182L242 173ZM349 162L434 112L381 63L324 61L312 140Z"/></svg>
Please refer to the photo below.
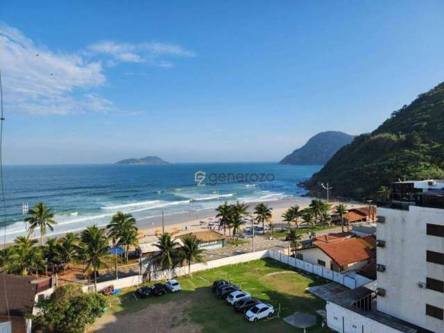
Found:
<svg viewBox="0 0 444 333"><path fill-rule="evenodd" d="M85 261L85 273L94 275L94 290L97 291L99 269L108 266L105 259L109 257L110 248L105 228L96 225L88 227L80 234L80 255Z"/></svg>

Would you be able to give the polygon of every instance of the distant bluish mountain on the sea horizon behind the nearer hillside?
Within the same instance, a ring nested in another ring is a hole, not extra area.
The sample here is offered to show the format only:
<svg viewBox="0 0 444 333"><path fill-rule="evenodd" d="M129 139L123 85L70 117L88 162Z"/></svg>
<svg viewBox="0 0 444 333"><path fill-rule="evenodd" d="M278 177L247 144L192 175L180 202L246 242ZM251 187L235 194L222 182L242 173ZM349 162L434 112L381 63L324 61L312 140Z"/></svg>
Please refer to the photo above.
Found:
<svg viewBox="0 0 444 333"><path fill-rule="evenodd" d="M325 164L341 147L352 142L353 136L332 130L311 137L301 148L287 155L280 164Z"/></svg>

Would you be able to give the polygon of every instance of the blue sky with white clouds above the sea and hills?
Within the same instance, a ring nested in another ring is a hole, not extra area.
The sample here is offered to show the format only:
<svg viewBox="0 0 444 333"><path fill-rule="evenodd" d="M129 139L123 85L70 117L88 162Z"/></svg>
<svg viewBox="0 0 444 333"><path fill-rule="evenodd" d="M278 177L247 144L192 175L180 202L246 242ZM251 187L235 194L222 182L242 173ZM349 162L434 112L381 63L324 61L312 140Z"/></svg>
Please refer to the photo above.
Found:
<svg viewBox="0 0 444 333"><path fill-rule="evenodd" d="M444 76L443 1L2 1L0 20L9 164L277 161Z"/></svg>

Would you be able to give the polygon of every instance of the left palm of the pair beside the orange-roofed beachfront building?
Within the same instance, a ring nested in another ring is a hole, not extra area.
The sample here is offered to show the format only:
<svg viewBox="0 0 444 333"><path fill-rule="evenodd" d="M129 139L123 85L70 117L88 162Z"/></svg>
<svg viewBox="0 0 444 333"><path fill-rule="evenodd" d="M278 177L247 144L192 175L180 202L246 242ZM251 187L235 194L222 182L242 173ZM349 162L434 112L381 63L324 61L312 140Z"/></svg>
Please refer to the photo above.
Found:
<svg viewBox="0 0 444 333"><path fill-rule="evenodd" d="M153 265L162 271L175 268L179 259L178 242L173 240L168 232L164 232L157 239L157 244L154 245L159 249L159 253L151 258Z"/></svg>

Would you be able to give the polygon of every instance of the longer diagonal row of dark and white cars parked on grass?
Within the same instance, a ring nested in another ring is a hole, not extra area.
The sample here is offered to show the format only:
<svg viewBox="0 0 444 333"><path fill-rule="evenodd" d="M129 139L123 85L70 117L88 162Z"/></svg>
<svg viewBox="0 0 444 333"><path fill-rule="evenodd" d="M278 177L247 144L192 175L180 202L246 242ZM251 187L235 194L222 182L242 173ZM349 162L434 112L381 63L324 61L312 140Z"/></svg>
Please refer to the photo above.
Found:
<svg viewBox="0 0 444 333"><path fill-rule="evenodd" d="M228 304L233 306L234 311L243 312L248 321L271 318L275 311L272 305L252 298L250 293L241 291L237 285L226 280L214 281L212 289L216 298L227 300Z"/></svg>

